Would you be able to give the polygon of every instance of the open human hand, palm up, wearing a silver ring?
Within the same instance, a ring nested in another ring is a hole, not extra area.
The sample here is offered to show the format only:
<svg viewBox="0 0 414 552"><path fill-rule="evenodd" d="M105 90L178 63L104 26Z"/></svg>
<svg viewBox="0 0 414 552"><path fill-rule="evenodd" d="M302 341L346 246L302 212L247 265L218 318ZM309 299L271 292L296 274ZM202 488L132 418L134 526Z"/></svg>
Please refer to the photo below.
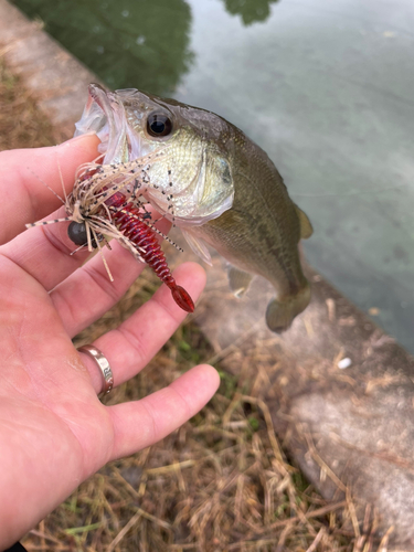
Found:
<svg viewBox="0 0 414 552"><path fill-rule="evenodd" d="M97 144L96 137L83 136L56 148L0 153L0 550L107 461L179 427L219 385L215 370L200 365L140 401L99 402L102 374L71 339L120 299L145 265L114 243L105 253L110 283L99 255L82 267L87 252L70 256L76 246L67 224L23 232L25 223L59 206L26 168L62 193L60 170L72 185L76 167L97 156ZM200 295L204 272L199 265L182 265L174 276L193 298ZM94 344L107 357L115 385L137 374L184 317L162 285L100 337Z"/></svg>

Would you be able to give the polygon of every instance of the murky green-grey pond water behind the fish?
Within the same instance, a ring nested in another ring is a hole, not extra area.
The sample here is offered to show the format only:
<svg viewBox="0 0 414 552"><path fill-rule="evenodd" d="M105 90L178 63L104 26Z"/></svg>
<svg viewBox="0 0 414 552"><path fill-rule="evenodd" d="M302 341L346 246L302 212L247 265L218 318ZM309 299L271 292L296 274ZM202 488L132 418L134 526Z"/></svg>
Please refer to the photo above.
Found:
<svg viewBox="0 0 414 552"><path fill-rule="evenodd" d="M412 0L14 3L112 88L241 127L312 221L310 264L414 352Z"/></svg>

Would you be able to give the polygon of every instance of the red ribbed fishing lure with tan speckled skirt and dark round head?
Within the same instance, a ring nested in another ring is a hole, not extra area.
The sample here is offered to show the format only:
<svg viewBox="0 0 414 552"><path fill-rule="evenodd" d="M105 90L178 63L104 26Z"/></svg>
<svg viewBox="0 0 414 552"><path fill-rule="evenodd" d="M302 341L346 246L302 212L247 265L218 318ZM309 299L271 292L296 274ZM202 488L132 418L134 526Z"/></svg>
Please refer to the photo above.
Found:
<svg viewBox="0 0 414 552"><path fill-rule="evenodd" d="M110 280L114 278L103 255L102 244L110 248L108 240L117 240L169 287L172 298L181 309L193 312L193 300L173 278L157 234L176 247L177 245L153 226L150 222L151 214L145 210L138 195L141 183L146 182L145 168L149 159L150 156L147 156L140 163L136 163L134 171L128 171L129 173L119 173L119 167L115 164L81 166L72 193L65 194L63 200L53 192L65 205L67 216L39 221L26 224L26 227L71 221L67 234L71 241L78 245L73 253L85 246L89 252L98 248Z"/></svg>

